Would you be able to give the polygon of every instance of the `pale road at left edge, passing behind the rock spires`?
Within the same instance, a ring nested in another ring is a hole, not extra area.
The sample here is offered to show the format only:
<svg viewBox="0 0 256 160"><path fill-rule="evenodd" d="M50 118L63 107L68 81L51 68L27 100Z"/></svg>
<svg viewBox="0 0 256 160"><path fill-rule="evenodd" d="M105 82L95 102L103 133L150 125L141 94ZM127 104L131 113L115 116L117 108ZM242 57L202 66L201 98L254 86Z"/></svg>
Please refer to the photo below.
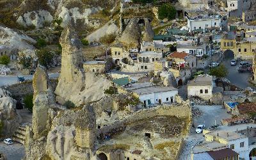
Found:
<svg viewBox="0 0 256 160"><path fill-rule="evenodd" d="M56 73L56 74L49 74L50 78L56 78L59 77L60 74ZM24 76L24 78L26 80L32 80L33 79L33 75L27 75ZM6 86L6 85L12 85L12 84L16 84L17 82L17 76L0 76L0 86Z"/></svg>

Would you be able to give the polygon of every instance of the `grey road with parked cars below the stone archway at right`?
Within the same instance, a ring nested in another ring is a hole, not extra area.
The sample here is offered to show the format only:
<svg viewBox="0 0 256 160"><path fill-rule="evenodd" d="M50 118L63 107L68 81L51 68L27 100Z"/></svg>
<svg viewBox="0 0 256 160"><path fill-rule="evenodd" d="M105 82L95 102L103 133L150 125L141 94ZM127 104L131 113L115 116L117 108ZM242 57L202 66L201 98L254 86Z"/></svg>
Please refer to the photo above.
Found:
<svg viewBox="0 0 256 160"><path fill-rule="evenodd" d="M252 76L252 74L250 72L239 73L237 71L237 67L240 62L238 61L236 66L231 66L230 61L231 61L231 58L223 60L223 63L228 69L228 76L227 76L228 80L230 81L230 83L240 88L243 88L243 89L247 88L249 86L248 79L250 76Z"/></svg>

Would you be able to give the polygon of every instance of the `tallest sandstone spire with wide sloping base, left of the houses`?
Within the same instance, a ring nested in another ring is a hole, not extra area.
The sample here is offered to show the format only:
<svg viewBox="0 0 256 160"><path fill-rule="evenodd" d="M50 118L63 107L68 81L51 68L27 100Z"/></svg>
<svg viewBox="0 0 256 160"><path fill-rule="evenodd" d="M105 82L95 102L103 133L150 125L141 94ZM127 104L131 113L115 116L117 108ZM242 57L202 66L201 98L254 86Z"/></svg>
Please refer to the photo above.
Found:
<svg viewBox="0 0 256 160"><path fill-rule="evenodd" d="M71 100L79 105L104 97L104 90L111 83L104 77L83 72L81 42L71 26L64 29L60 44L63 49L61 74L55 91L58 102Z"/></svg>

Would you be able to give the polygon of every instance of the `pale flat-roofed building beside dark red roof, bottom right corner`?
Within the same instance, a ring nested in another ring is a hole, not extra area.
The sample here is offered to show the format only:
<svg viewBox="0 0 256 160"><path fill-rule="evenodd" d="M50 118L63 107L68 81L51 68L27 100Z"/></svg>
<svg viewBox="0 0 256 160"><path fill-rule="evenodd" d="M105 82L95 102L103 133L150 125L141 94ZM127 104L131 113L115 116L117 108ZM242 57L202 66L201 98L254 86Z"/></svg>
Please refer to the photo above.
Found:
<svg viewBox="0 0 256 160"><path fill-rule="evenodd" d="M218 129L206 129L203 132L204 143L196 145L193 148L193 154L195 156L207 150L230 148L239 154L239 159L256 159L256 155L253 154L256 150L255 131L255 124L221 125Z"/></svg>

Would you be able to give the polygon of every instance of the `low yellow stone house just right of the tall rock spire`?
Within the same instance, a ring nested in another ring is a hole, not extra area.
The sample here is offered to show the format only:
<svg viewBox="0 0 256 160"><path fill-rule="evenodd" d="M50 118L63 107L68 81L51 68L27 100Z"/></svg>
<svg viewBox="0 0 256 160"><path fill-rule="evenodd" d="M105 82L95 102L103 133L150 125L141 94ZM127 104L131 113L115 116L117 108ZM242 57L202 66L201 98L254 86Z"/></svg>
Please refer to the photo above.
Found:
<svg viewBox="0 0 256 160"><path fill-rule="evenodd" d="M94 72L103 74L107 71L106 61L86 61L83 63L85 72Z"/></svg>

